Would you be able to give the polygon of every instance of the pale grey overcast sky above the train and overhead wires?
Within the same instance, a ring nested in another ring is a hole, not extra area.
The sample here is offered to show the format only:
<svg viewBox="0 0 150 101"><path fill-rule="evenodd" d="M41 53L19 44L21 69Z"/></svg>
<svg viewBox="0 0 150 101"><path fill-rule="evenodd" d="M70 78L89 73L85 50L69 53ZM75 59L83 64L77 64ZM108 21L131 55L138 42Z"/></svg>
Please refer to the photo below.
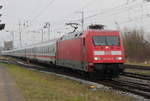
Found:
<svg viewBox="0 0 150 101"><path fill-rule="evenodd" d="M1 19L6 23L7 31L15 32L16 47L19 43L19 22L23 44L31 44L41 40L40 33L32 32L40 32L45 22L51 23L51 38L54 38L57 32L64 30L66 22L77 20L74 22L80 23L81 11L84 11L85 17L88 16L85 18L85 27L93 23L105 24L110 29L145 27L150 21L149 3L143 4L142 13L142 0L1 0L0 3L3 5ZM26 26L23 26L24 23ZM0 45L3 41L12 40L6 30L0 32ZM47 40L47 30L44 31Z"/></svg>

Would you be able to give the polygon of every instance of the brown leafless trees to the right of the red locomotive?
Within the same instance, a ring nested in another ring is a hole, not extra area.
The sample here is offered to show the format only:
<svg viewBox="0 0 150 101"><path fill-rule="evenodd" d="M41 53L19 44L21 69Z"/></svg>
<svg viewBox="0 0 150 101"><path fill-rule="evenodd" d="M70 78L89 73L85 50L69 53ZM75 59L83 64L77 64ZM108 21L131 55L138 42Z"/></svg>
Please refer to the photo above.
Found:
<svg viewBox="0 0 150 101"><path fill-rule="evenodd" d="M150 43L144 39L144 31L125 28L123 40L127 59L146 61L150 59Z"/></svg>

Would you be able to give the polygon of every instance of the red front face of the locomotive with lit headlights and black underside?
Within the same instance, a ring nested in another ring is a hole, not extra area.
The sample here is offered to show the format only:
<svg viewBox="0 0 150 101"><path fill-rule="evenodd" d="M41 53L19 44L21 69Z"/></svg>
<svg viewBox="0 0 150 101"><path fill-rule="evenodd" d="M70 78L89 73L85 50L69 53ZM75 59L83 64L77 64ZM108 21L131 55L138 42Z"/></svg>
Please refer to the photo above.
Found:
<svg viewBox="0 0 150 101"><path fill-rule="evenodd" d="M91 30L86 32L89 72L118 76L123 72L124 48L118 31Z"/></svg>

